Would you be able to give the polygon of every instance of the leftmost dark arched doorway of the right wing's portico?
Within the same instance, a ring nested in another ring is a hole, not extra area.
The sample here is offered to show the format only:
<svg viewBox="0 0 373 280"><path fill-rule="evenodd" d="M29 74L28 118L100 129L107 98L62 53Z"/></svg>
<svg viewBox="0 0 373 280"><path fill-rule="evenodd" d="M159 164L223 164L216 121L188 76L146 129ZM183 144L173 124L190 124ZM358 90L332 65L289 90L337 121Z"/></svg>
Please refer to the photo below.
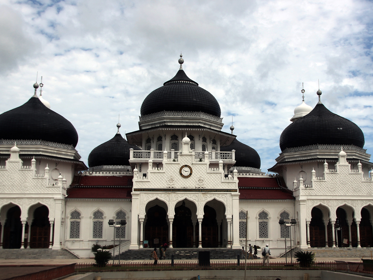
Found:
<svg viewBox="0 0 373 280"><path fill-rule="evenodd" d="M323 221L323 212L317 207L314 207L311 210L310 246L325 247L325 225Z"/></svg>

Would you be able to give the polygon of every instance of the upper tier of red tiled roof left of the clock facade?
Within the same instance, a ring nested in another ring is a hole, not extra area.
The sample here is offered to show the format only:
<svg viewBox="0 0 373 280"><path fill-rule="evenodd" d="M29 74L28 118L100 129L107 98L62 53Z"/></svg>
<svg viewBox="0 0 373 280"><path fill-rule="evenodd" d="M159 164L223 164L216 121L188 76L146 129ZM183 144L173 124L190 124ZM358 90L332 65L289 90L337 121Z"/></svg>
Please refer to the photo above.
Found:
<svg viewBox="0 0 373 280"><path fill-rule="evenodd" d="M96 175L76 175L71 186L132 186L133 176L96 176Z"/></svg>

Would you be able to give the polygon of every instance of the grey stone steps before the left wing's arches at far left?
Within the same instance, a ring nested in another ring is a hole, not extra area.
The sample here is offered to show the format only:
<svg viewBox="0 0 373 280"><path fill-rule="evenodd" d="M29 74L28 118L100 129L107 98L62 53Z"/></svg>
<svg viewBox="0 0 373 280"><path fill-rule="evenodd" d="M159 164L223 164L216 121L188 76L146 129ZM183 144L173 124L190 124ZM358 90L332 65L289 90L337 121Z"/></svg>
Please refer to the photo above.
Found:
<svg viewBox="0 0 373 280"><path fill-rule="evenodd" d="M0 259L77 259L77 257L63 249L0 249Z"/></svg>

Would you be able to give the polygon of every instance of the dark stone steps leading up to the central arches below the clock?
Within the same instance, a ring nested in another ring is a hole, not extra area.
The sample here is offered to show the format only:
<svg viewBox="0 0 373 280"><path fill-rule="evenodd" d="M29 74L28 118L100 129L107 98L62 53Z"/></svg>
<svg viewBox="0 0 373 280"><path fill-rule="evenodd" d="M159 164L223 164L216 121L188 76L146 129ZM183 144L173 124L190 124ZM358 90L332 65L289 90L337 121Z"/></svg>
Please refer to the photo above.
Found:
<svg viewBox="0 0 373 280"><path fill-rule="evenodd" d="M120 253L120 259L151 259L151 252L154 249L138 249L128 250ZM241 249L228 249L228 248L173 248L166 250L166 259L171 259L171 255L174 255L174 259L198 259L199 251L210 251L210 259L237 259L237 255L241 256ZM159 249L157 248L157 254L159 256ZM119 256L115 256L118 259Z"/></svg>

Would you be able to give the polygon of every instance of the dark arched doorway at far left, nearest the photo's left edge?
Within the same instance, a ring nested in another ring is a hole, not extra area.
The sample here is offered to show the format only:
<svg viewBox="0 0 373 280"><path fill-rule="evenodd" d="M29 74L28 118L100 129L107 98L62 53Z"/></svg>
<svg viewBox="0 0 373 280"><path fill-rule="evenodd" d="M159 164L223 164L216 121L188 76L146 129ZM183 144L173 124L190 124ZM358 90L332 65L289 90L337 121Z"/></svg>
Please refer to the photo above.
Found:
<svg viewBox="0 0 373 280"><path fill-rule="evenodd" d="M21 208L13 206L6 213L6 222L4 225L4 249L21 248L22 223Z"/></svg>

